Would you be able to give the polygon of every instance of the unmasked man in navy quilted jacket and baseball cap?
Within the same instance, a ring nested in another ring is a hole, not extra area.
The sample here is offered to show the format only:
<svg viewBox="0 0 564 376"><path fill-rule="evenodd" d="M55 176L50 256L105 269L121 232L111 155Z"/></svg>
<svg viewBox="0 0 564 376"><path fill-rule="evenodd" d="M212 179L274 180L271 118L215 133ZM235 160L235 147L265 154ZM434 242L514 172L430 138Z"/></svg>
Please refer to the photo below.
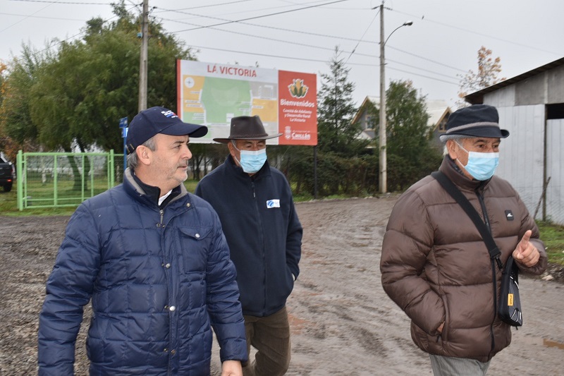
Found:
<svg viewBox="0 0 564 376"><path fill-rule="evenodd" d="M187 192L190 137L163 107L137 114L123 184L71 217L39 316L39 375L73 375L82 308L92 298L90 375L209 375L212 328L222 376L242 375L245 325L216 212Z"/></svg>

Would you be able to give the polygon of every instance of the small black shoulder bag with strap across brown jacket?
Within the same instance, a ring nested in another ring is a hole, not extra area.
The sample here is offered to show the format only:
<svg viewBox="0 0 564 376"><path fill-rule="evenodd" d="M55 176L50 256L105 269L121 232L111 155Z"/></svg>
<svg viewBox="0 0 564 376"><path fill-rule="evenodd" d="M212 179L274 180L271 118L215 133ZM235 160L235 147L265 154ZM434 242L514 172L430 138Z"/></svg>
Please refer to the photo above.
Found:
<svg viewBox="0 0 564 376"><path fill-rule="evenodd" d="M478 212L474 209L470 201L466 198L462 192L449 178L446 177L441 171L434 171L431 173L441 186L446 190L462 209L468 214L468 217L472 219L474 225L476 225L482 239L488 248L489 256L491 258L491 273L494 282L494 301L496 301L497 295L497 285L496 285L496 271L494 266L494 260L497 263L499 269L502 269L501 277L501 296L499 303L497 305L497 311L499 318L513 326L520 327L523 325L523 317L521 311L521 301L519 298L519 268L517 267L512 256L509 256L507 262L505 263L505 268L501 262L499 256L501 251L498 249L494 238L491 236L489 229L487 228L482 218Z"/></svg>

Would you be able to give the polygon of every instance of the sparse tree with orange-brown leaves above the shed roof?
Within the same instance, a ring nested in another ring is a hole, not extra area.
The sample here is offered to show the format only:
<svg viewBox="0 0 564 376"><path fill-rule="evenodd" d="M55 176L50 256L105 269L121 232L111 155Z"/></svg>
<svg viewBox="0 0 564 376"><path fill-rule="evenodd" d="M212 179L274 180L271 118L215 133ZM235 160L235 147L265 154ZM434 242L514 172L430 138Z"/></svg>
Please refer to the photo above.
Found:
<svg viewBox="0 0 564 376"><path fill-rule="evenodd" d="M478 50L478 71L468 71L465 75L458 75L460 78L460 88L458 97L461 99L471 92L477 92L491 85L505 80L505 78L498 78L501 73L501 59L491 57L491 49L486 49L482 46ZM458 103L464 107L464 102Z"/></svg>

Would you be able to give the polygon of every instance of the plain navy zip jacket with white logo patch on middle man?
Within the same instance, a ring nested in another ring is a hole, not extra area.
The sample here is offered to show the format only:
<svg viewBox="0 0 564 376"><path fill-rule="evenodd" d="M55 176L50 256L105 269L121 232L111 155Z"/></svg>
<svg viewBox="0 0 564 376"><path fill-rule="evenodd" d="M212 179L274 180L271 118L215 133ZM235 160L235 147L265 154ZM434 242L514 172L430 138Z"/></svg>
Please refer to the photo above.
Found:
<svg viewBox="0 0 564 376"><path fill-rule="evenodd" d="M228 156L198 183L195 194L212 204L227 238L243 314L281 310L300 274L302 225L281 171L264 163L252 177Z"/></svg>

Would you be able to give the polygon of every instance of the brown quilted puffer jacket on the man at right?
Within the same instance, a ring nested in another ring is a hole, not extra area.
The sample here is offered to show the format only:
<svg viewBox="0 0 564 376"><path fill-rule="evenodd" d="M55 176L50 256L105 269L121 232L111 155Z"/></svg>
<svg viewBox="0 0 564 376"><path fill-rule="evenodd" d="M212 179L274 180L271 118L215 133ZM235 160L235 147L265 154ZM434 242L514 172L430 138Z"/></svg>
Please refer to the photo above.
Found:
<svg viewBox="0 0 564 376"><path fill-rule="evenodd" d="M534 267L520 267L530 274L544 272L546 252L539 229L507 181L497 176L470 181L448 156L440 170L487 217L504 264L530 229L541 259ZM384 290L412 320L412 339L423 351L486 362L510 344L510 326L495 315L486 245L470 217L431 176L415 183L396 202L380 269ZM495 269L499 296L501 272ZM441 322L445 324L439 334Z"/></svg>

